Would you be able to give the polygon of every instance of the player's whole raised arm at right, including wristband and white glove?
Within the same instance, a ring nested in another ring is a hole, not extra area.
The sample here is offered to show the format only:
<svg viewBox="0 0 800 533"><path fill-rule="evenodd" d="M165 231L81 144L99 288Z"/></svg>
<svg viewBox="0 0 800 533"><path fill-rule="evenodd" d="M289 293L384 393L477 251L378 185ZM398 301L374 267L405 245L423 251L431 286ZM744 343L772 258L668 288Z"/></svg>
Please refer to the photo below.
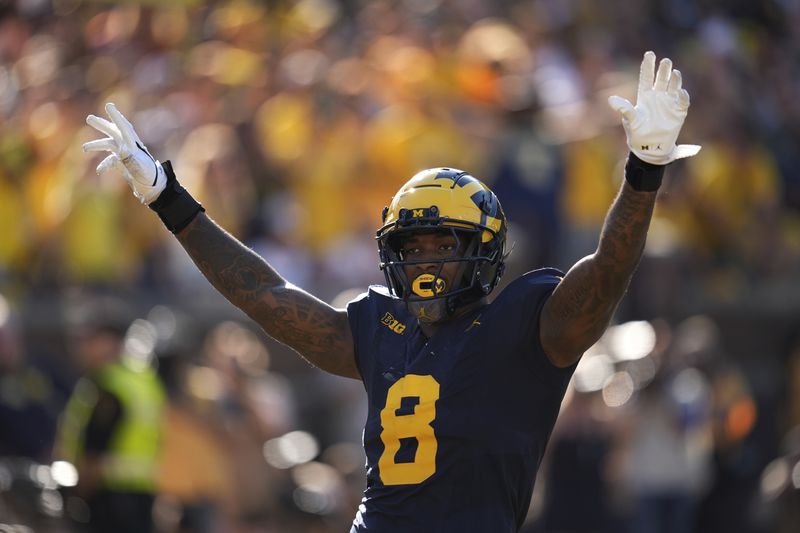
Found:
<svg viewBox="0 0 800 533"><path fill-rule="evenodd" d="M664 168L695 155L699 146L675 141L689 109L689 94L672 62L647 52L634 107L618 96L609 104L622 114L630 154L625 181L611 205L597 250L578 261L542 308L539 338L559 367L577 362L608 327L644 250Z"/></svg>

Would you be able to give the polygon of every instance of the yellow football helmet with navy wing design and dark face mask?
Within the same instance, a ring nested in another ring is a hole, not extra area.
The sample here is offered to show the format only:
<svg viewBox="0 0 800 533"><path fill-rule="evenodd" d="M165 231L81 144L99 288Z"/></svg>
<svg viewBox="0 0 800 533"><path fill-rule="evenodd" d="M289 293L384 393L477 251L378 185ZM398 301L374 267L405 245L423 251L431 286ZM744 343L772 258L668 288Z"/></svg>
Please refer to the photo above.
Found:
<svg viewBox="0 0 800 533"><path fill-rule="evenodd" d="M488 295L503 274L506 218L497 196L480 180L454 168L418 172L383 209L377 232L380 268L389 291L406 300L420 320L436 322L457 307ZM403 243L414 234L445 232L456 238L449 257L409 260ZM457 262L449 287L440 278L445 263ZM438 263L438 271L410 280L405 267Z"/></svg>

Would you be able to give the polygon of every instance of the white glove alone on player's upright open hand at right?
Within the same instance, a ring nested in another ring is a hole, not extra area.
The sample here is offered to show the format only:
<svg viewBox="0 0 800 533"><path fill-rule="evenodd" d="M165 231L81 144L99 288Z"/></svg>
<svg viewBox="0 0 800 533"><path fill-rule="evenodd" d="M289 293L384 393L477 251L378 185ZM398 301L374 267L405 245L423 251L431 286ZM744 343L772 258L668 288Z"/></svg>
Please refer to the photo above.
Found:
<svg viewBox="0 0 800 533"><path fill-rule="evenodd" d="M679 70L664 58L654 76L656 55L645 52L639 72L636 106L621 96L610 96L608 104L622 114L628 148L636 157L654 165L666 165L700 151L696 144L675 146L689 110L689 93L681 88Z"/></svg>

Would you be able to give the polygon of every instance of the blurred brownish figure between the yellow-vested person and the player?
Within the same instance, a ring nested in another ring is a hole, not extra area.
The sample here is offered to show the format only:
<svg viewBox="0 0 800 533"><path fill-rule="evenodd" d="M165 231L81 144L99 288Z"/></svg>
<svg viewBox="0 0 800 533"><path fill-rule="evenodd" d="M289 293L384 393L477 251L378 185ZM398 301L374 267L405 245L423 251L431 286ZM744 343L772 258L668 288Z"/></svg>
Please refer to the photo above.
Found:
<svg viewBox="0 0 800 533"><path fill-rule="evenodd" d="M226 450L234 480L231 513L237 523L273 527L281 519L291 464L270 463L265 445L296 427L293 391L269 371L263 342L236 322L214 325L202 350L187 376L188 393Z"/></svg>

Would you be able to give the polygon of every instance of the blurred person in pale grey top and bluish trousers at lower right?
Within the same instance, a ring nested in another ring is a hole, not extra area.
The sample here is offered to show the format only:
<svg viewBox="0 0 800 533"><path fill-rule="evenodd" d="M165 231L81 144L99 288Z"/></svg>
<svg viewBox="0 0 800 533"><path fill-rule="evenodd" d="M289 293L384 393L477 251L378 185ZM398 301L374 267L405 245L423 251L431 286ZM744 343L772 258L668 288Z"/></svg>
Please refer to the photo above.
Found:
<svg viewBox="0 0 800 533"><path fill-rule="evenodd" d="M625 420L623 482L633 500L632 531L685 533L712 475L712 393L698 367L700 350L716 342L692 318L676 327L652 381ZM709 325L708 327L713 327Z"/></svg>

